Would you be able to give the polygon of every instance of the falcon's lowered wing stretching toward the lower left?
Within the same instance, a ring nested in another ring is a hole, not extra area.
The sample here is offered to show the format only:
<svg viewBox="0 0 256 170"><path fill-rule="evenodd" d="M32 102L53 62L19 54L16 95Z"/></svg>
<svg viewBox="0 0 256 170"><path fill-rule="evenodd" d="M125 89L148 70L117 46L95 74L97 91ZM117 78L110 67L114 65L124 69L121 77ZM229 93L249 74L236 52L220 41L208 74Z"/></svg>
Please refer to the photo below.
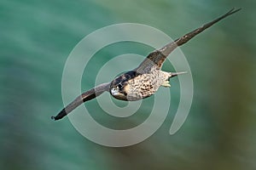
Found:
<svg viewBox="0 0 256 170"><path fill-rule="evenodd" d="M73 100L69 105L67 105L64 109L62 109L57 116L51 116L53 120L59 120L64 116L67 116L67 114L71 111L73 111L75 108L77 108L79 105L84 103L85 101L88 101L90 99L94 99L97 96L101 95L103 92L109 91L110 83L103 83L96 88L91 88L87 92L84 92L84 94L79 95L76 99Z"/></svg>

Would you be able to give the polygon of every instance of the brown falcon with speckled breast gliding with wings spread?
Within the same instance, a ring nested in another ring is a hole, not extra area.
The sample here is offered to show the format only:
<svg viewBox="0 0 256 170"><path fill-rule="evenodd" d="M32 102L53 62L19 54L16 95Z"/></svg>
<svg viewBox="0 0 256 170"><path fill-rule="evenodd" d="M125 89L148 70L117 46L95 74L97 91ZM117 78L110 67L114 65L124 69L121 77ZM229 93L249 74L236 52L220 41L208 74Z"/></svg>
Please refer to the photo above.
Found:
<svg viewBox="0 0 256 170"><path fill-rule="evenodd" d="M191 38L201 33L201 31L206 30L219 20L223 20L240 9L241 8L232 8L229 12L217 19L212 20L194 31L190 31L183 37L177 38L174 42L166 44L163 48L154 50L152 53L148 54L148 57L144 59L136 69L125 72L119 77L114 78L112 82L102 83L101 85L84 92L62 109L57 116L51 116L51 118L55 121L59 120L64 116L67 116L68 113L73 111L79 105L90 99L96 98L104 92L109 92L115 99L135 101L148 98L154 94L160 86L171 87L169 83L170 78L186 72L161 71L161 67L166 60L166 57L171 54L175 48L189 42Z"/></svg>

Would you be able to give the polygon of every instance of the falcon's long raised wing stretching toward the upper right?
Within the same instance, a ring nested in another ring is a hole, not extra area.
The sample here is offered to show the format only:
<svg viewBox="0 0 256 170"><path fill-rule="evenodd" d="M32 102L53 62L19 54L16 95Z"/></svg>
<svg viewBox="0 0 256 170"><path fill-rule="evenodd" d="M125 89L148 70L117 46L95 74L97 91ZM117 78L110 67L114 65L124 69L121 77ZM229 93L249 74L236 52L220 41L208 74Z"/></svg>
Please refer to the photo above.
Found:
<svg viewBox="0 0 256 170"><path fill-rule="evenodd" d="M189 42L189 40L192 37L195 37L197 34L201 33L202 31L206 30L207 28L211 27L215 23L217 23L219 20L223 20L225 17L229 16L230 14L234 14L237 11L239 11L241 8L238 8L235 10L235 8L232 8L229 12L226 14L218 17L218 19L212 20L211 22L201 26L200 28L195 29L194 31L190 31L183 37L177 38L174 42L170 42L166 44L163 48L160 48L158 50L155 50L151 54L148 54L148 57L143 60L142 64L135 69L135 71L139 73L147 73L151 70L153 66L156 66L157 69L160 69L163 65L164 61L166 60L166 57L172 53L172 51L177 48L178 46L183 45L186 42Z"/></svg>

